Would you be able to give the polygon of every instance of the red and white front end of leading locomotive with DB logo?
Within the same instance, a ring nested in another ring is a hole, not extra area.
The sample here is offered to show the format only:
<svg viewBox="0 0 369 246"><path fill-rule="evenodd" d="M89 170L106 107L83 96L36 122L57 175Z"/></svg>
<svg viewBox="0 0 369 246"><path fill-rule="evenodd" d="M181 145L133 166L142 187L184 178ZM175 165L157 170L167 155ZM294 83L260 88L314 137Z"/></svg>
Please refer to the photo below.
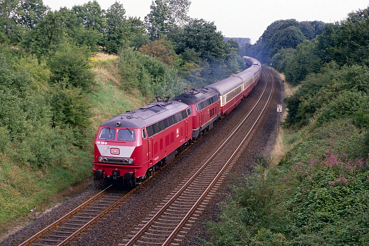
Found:
<svg viewBox="0 0 369 246"><path fill-rule="evenodd" d="M142 155L145 129L132 124L129 118L130 115L118 115L100 126L94 142L94 180L124 177L129 182L145 175L139 172L147 159Z"/></svg>

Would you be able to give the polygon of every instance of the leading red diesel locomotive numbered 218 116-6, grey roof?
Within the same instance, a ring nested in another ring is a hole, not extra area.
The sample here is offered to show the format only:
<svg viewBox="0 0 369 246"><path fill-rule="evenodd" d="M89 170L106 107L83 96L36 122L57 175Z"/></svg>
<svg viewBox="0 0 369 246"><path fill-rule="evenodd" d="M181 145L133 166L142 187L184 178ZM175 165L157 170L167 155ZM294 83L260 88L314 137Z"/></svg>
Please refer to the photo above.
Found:
<svg viewBox="0 0 369 246"><path fill-rule="evenodd" d="M101 124L94 143L95 180L124 178L135 186L187 148L190 108L168 99Z"/></svg>

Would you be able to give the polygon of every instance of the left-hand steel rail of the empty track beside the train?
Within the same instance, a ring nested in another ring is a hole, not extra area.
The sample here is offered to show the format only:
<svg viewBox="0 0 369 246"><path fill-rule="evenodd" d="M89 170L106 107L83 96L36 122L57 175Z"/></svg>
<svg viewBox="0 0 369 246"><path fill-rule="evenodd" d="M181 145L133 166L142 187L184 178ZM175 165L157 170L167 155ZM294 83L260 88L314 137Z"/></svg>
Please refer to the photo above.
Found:
<svg viewBox="0 0 369 246"><path fill-rule="evenodd" d="M265 73L265 72L264 72ZM265 75L266 76L266 75ZM228 143L228 141L231 139L232 136L235 135L235 133L237 132L237 130L242 126L242 124L245 122L245 120L249 117L249 115L252 113L252 111L254 111L255 107L258 105L259 101L261 100L261 98L263 97L264 93L265 93L265 90L266 90L266 87L268 85L268 77L266 76L266 81L267 83L265 83L265 88L263 90L263 93L261 94L261 96L259 97L258 101L255 103L254 107L250 110L250 112L246 115L246 117L242 120L242 122L238 125L238 127L232 132L232 134L230 136L228 136L228 138L222 143L222 145L217 149L215 150L214 154L211 155L209 157L209 159L200 167L199 170L196 171L196 173L193 174L193 176L176 192L176 194L173 195L173 197L171 197L165 205L163 205L162 208L160 208L158 210L158 212L156 212L156 214L127 242L125 243L125 246L130 246L132 245L133 242L135 242L135 240L137 240L141 235L142 233L149 228L149 226L157 219L159 218L159 216L162 214L162 212L165 211L166 208L169 207L169 205L182 193L182 191L187 187L189 186L189 184L197 177L197 175L207 166L207 164L215 157L215 155L217 153L220 152L221 149L223 149L224 145L226 143ZM269 96L270 98L270 96ZM269 101L269 98L268 98L268 101ZM264 107L265 108L265 107ZM260 117L260 116L259 116ZM255 125L255 124L254 124ZM238 149L237 149L238 150ZM235 154L235 153L234 153ZM234 154L232 155L232 158L234 156ZM229 163L229 162L227 162ZM227 164L228 165L228 164ZM223 169L222 169L222 172L223 172ZM217 176L218 177L218 176ZM213 181L214 182L214 181Z"/></svg>

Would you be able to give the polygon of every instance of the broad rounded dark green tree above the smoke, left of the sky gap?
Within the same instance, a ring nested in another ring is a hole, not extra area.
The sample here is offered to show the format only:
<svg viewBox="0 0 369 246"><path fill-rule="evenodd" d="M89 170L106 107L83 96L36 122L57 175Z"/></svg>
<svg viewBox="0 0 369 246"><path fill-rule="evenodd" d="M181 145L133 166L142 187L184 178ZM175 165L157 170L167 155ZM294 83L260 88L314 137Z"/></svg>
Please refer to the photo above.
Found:
<svg viewBox="0 0 369 246"><path fill-rule="evenodd" d="M191 19L188 24L184 25L183 32L179 34L177 53L194 49L202 59L224 59L227 45L223 38L222 33L217 31L214 22Z"/></svg>

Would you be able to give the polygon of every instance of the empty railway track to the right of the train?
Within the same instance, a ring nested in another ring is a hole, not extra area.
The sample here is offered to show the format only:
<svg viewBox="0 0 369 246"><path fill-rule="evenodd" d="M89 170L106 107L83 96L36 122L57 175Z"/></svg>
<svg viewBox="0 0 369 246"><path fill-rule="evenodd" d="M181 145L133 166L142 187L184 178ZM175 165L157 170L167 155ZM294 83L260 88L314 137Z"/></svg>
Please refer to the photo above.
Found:
<svg viewBox="0 0 369 246"><path fill-rule="evenodd" d="M166 199L155 208L146 221L142 221L132 235L118 245L179 245L186 237L197 217L201 214L229 173L238 157L245 150L248 139L255 130L255 125L261 118L273 91L273 77L266 77L264 91L241 124L217 148L207 160L201 163L200 169L190 174ZM265 93L270 87L270 93ZM254 120L247 120L254 118Z"/></svg>

